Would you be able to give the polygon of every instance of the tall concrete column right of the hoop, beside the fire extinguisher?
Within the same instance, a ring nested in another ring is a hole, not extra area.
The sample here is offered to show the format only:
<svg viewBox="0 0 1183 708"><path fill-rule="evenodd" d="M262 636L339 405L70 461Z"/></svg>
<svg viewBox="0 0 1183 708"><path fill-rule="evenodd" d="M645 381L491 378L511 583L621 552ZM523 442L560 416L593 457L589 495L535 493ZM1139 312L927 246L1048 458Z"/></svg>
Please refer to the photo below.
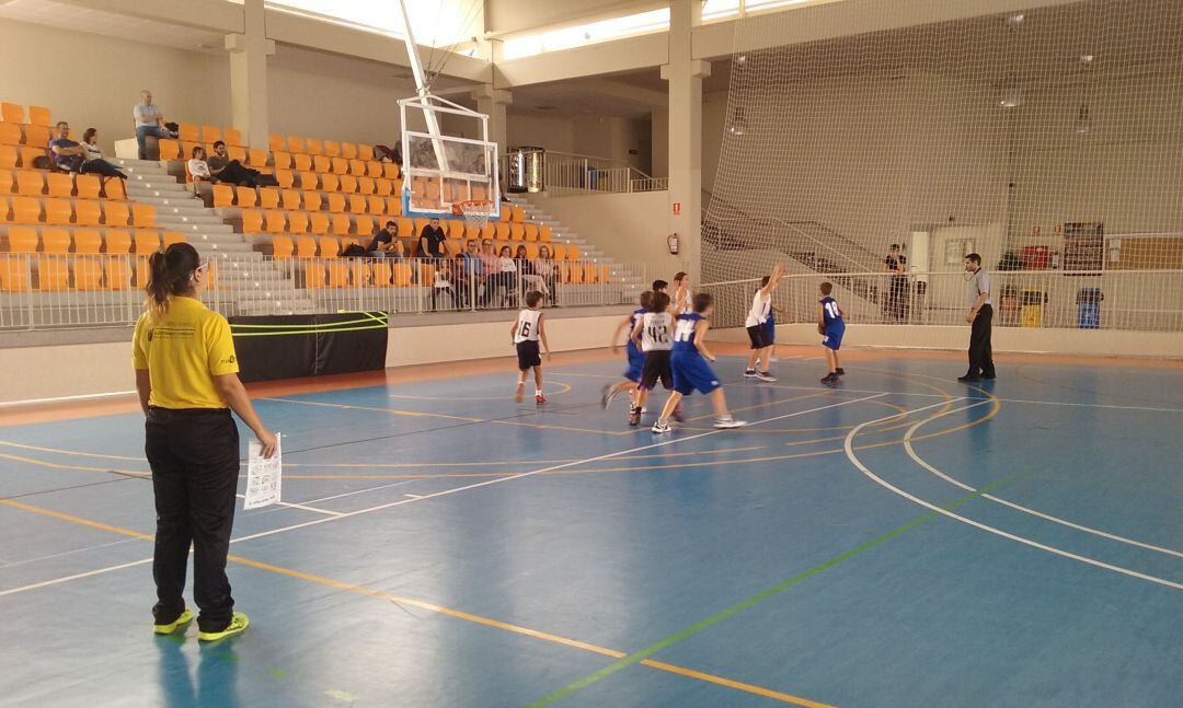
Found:
<svg viewBox="0 0 1183 708"><path fill-rule="evenodd" d="M670 83L670 233L679 236L678 255L693 284L702 275L703 78L711 76L711 64L691 52L702 6L697 0L671 0L670 63L661 67L661 78Z"/></svg>

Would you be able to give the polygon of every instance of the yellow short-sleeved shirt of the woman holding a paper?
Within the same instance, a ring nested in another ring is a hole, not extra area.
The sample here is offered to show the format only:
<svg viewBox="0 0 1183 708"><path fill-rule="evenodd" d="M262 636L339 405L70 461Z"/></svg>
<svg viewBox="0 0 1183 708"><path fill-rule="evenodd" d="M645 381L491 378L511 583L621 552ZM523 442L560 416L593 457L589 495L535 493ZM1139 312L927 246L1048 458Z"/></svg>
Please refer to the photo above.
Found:
<svg viewBox="0 0 1183 708"><path fill-rule="evenodd" d="M227 408L213 377L238 372L230 323L183 297L169 299L164 317L140 317L131 364L151 378L148 403L172 409Z"/></svg>

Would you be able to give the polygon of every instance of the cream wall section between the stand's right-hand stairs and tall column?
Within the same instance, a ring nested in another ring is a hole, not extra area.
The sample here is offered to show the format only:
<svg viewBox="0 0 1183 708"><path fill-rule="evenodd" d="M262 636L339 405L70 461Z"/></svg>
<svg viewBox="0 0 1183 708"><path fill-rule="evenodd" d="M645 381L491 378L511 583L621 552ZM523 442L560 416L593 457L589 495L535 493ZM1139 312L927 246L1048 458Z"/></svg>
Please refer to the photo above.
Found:
<svg viewBox="0 0 1183 708"><path fill-rule="evenodd" d="M670 255L666 246L667 191L529 197L613 259L625 265L646 264L657 273L653 278L668 280L681 267L679 256Z"/></svg>

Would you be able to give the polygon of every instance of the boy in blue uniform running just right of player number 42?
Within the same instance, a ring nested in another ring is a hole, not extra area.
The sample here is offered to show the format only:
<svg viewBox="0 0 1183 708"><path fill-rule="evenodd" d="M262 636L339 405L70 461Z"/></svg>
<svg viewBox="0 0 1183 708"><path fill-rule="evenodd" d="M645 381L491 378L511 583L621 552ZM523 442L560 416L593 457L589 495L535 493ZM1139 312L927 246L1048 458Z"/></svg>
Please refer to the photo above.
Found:
<svg viewBox="0 0 1183 708"><path fill-rule="evenodd" d="M711 397L716 428L741 428L746 424L731 417L728 411L728 400L719 388L719 378L707 364L709 361L715 361L715 355L706 349L706 331L711 329L711 323L706 318L715 311L715 298L710 293L698 293L694 295L693 310L690 314L678 316L674 323L673 349L670 352L673 392L661 409L661 417L653 423L654 433L670 431L670 415L681 402L683 396L689 396L696 390Z"/></svg>

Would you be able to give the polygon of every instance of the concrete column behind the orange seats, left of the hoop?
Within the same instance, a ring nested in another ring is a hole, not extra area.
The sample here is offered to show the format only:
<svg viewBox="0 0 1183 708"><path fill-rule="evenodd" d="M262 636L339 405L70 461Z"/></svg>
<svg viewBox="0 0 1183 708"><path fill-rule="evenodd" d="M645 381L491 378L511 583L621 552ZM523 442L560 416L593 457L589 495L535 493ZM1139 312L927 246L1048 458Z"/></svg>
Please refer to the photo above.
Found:
<svg viewBox="0 0 1183 708"><path fill-rule="evenodd" d="M230 106L234 128L252 148L267 148L267 57L276 43L267 39L263 0L243 4L243 34L226 35L230 52Z"/></svg>

